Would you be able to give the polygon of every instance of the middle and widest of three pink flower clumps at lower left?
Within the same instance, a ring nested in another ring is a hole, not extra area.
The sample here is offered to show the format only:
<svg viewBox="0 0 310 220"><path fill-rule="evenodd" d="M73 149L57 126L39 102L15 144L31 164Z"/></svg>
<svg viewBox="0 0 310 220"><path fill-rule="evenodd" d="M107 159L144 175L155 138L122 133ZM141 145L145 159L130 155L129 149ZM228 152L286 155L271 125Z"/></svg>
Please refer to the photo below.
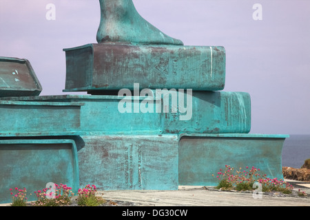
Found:
<svg viewBox="0 0 310 220"><path fill-rule="evenodd" d="M70 197L74 195L72 188L65 184L54 184L52 188L43 188L34 192L37 201L33 206L65 206L70 204Z"/></svg>

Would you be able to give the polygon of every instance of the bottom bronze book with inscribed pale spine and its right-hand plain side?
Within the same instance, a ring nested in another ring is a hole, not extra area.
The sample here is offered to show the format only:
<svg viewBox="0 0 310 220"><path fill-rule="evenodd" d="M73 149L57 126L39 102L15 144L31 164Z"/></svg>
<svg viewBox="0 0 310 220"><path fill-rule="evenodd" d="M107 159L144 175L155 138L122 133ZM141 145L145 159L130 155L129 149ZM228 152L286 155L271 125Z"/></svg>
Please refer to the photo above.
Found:
<svg viewBox="0 0 310 220"><path fill-rule="evenodd" d="M81 184L104 190L177 190L216 186L225 165L260 168L283 179L282 146L288 135L85 135L79 151ZM214 176L212 176L214 174Z"/></svg>

